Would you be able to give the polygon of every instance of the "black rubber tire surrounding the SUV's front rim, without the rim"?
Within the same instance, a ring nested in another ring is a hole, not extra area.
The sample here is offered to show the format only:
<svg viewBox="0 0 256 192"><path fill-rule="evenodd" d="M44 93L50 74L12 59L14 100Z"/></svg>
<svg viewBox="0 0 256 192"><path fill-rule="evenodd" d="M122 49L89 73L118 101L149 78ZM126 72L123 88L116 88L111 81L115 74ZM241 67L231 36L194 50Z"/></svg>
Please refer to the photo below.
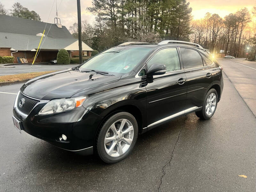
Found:
<svg viewBox="0 0 256 192"><path fill-rule="evenodd" d="M127 119L132 123L134 135L133 135L132 143L131 143L130 147L127 149L127 151L124 152L123 155L120 155L118 157L112 157L112 156L108 155L108 153L105 150L104 140L105 140L105 136L108 132L109 127L113 123L118 121L119 119ZM116 163L118 161L123 160L130 154L130 152L132 151L132 149L137 141L137 138L138 138L138 124L137 124L135 117L132 114L127 113L127 112L119 112L119 113L116 113L116 114L110 116L102 125L100 131L97 134L97 138L95 140L95 149L102 161L104 161L105 163L109 163L109 164Z"/></svg>

